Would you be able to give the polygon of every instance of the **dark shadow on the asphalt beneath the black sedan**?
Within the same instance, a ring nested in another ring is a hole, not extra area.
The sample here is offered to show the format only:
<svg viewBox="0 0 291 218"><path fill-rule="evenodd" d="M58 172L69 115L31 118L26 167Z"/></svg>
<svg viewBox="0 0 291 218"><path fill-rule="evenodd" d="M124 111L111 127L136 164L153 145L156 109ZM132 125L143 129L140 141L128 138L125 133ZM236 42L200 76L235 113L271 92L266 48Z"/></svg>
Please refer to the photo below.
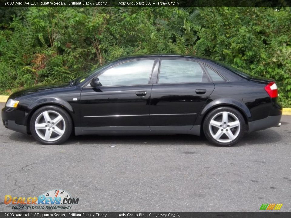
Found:
<svg viewBox="0 0 291 218"><path fill-rule="evenodd" d="M23 143L36 143L31 135L14 132L10 134L9 138L13 141ZM279 142L282 136L275 130L262 130L253 133L246 133L243 138L233 147L247 146L254 144L270 144ZM141 136L100 136L100 135L86 135L75 136L72 135L62 145L80 145L80 144L137 144L137 145L206 145L215 146L208 142L205 136L193 135L141 135Z"/></svg>

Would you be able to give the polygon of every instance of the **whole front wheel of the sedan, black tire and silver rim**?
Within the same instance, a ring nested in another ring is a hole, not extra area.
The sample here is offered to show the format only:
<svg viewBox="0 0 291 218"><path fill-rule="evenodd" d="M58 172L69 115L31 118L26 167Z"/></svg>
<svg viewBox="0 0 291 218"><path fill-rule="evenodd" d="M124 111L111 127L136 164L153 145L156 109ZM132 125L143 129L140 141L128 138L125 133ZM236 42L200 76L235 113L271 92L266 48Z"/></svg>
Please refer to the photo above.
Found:
<svg viewBox="0 0 291 218"><path fill-rule="evenodd" d="M42 144L61 144L72 133L72 120L60 107L44 106L32 115L30 131L32 136Z"/></svg>

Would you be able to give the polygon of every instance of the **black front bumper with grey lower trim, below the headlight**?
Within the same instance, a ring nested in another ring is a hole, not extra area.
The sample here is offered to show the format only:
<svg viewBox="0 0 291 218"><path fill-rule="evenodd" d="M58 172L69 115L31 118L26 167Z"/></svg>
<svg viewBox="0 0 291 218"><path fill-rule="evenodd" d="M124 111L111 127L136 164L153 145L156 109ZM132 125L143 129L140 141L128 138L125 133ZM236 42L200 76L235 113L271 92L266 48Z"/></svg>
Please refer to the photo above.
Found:
<svg viewBox="0 0 291 218"><path fill-rule="evenodd" d="M12 107L4 107L1 115L5 128L16 132L27 133L26 125L22 125L21 123L24 121L24 113L22 111Z"/></svg>

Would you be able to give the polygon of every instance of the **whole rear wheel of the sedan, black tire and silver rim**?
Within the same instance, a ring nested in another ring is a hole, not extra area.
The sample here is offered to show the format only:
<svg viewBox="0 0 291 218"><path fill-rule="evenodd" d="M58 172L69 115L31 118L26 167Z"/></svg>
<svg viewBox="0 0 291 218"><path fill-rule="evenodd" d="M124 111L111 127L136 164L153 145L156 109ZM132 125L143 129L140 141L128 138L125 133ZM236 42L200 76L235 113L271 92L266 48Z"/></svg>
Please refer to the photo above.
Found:
<svg viewBox="0 0 291 218"><path fill-rule="evenodd" d="M219 107L207 114L203 131L218 146L232 146L243 136L246 124L242 114L232 107Z"/></svg>

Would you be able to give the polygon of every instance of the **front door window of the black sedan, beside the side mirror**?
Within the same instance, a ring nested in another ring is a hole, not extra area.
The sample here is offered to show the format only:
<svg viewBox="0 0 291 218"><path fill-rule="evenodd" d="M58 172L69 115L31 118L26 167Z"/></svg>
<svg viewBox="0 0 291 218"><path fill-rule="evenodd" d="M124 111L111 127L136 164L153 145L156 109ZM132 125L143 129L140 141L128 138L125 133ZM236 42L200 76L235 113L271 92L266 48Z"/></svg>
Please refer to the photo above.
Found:
<svg viewBox="0 0 291 218"><path fill-rule="evenodd" d="M98 76L102 86L148 84L155 60L129 61Z"/></svg>

